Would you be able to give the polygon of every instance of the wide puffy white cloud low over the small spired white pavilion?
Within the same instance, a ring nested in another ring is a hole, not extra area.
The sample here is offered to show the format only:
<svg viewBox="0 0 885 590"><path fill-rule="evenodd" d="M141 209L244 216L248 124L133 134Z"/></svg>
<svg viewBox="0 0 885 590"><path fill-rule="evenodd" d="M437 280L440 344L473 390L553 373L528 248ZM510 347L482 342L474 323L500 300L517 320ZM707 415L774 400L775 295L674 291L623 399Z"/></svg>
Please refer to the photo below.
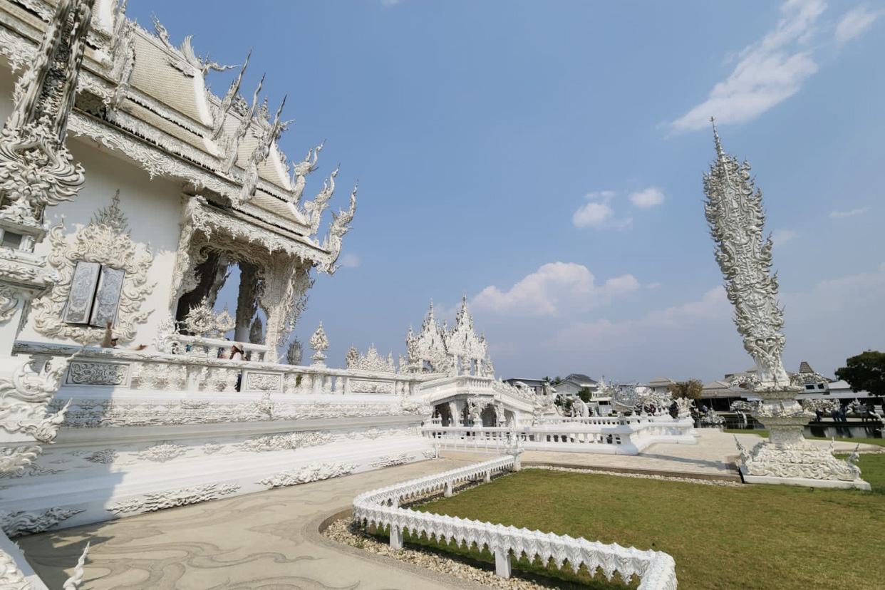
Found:
<svg viewBox="0 0 885 590"><path fill-rule="evenodd" d="M593 273L582 264L554 262L543 264L509 291L494 285L482 289L471 307L500 314L556 316L568 310L586 310L627 295L640 287L631 274L624 274L596 285Z"/></svg>

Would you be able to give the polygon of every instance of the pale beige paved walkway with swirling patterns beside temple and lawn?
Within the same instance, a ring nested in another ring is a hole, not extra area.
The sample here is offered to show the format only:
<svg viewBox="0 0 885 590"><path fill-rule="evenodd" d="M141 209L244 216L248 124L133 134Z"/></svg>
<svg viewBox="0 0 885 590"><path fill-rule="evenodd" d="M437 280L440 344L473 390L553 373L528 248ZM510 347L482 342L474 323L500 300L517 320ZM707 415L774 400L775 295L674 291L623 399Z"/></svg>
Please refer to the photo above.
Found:
<svg viewBox="0 0 885 590"><path fill-rule="evenodd" d="M640 456L527 452L523 461L733 479L734 437L700 433L696 445L656 444ZM758 441L753 434L739 437L748 446ZM62 586L70 574L62 568L76 563L87 541L92 547L81 590L480 588L342 547L318 530L323 520L348 510L361 492L486 458L444 453L436 461L33 535L19 539L19 545L50 588Z"/></svg>

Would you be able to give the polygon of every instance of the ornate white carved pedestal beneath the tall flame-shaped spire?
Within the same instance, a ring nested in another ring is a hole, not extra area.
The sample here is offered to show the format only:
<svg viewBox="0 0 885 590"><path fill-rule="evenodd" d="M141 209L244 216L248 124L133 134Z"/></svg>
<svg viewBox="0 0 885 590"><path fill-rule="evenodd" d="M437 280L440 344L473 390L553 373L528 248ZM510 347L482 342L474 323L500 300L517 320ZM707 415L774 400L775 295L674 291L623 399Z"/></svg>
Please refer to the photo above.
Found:
<svg viewBox="0 0 885 590"><path fill-rule="evenodd" d="M838 459L831 448L820 448L806 441L803 429L813 414L796 401L797 387L780 391L757 391L762 398L753 412L769 432L767 441L751 449L737 443L741 451L743 480L754 484L787 484L808 487L854 487L869 490L860 479L860 470L852 460Z"/></svg>

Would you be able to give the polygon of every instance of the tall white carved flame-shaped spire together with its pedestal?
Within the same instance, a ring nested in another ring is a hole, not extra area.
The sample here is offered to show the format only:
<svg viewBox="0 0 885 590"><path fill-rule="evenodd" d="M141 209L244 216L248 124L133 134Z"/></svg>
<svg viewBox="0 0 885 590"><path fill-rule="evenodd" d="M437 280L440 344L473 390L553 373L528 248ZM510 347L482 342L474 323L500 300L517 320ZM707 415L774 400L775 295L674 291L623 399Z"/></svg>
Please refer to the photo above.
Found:
<svg viewBox="0 0 885 590"><path fill-rule="evenodd" d="M716 262L725 278L728 301L735 306L743 348L756 362L757 379L749 384L762 400L754 418L766 426L769 440L741 451L741 471L749 483L869 489L851 461L806 441L804 425L812 414L796 401L799 387L783 368L783 310L778 307L777 274L772 274L772 239L763 237L762 191L754 186L750 165L722 149L716 126L716 162L704 174L704 212L716 243Z"/></svg>

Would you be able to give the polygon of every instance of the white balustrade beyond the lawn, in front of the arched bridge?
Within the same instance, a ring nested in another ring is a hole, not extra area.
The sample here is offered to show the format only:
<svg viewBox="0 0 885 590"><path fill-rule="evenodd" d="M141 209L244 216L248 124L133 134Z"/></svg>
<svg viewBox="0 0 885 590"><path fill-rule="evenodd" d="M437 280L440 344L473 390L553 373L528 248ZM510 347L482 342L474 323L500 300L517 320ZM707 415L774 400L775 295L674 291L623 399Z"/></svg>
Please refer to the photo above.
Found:
<svg viewBox="0 0 885 590"><path fill-rule="evenodd" d="M448 450L501 453L513 433L526 450L637 455L655 442L694 444L690 418L576 418L515 426L443 426L438 419L423 427L427 438Z"/></svg>

